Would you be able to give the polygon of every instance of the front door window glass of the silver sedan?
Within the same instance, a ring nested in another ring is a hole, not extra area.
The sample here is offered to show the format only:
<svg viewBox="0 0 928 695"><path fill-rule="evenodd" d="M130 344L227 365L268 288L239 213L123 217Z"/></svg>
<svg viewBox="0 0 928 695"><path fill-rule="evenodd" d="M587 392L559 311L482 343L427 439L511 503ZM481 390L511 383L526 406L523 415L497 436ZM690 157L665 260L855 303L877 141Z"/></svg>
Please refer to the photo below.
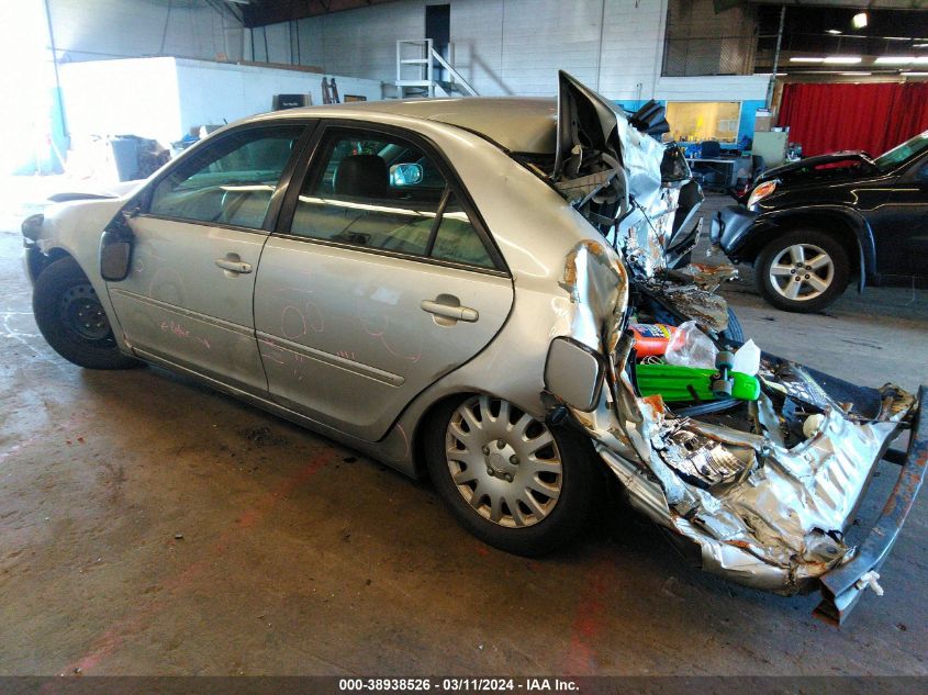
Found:
<svg viewBox="0 0 928 695"><path fill-rule="evenodd" d="M149 214L261 228L302 130L254 128L204 145L157 184Z"/></svg>

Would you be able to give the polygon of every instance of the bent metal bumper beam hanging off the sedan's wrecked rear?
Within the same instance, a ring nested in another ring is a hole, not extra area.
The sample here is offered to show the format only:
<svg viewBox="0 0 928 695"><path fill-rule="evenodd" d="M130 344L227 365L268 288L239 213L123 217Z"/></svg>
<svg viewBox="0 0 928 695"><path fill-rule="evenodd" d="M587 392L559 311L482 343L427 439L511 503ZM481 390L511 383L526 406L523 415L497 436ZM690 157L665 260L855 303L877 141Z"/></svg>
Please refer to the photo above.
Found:
<svg viewBox="0 0 928 695"><path fill-rule="evenodd" d="M918 390L917 412L913 416L908 451L901 463L899 478L883 507L880 518L866 539L860 543L854 557L820 578L821 603L815 615L840 625L870 586L875 573L890 554L903 524L915 504L915 497L925 481L928 467L928 386ZM890 456L887 460L893 460Z"/></svg>

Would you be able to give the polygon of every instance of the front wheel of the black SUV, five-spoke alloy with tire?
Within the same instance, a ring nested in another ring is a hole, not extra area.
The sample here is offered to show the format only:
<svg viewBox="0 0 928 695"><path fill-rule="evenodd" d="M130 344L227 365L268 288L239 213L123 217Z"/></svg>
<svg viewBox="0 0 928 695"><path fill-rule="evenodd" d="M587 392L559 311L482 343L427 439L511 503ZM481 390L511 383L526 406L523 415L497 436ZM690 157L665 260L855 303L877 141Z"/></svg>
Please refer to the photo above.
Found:
<svg viewBox="0 0 928 695"><path fill-rule="evenodd" d="M845 247L819 229L795 229L776 237L758 256L754 278L763 299L787 312L821 311L848 287Z"/></svg>

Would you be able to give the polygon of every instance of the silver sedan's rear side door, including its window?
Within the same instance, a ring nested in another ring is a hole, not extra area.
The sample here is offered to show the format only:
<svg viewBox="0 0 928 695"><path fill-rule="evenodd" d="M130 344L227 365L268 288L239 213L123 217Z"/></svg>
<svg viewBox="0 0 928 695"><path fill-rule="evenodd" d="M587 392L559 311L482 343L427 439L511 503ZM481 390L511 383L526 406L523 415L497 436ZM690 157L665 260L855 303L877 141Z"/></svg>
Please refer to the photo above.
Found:
<svg viewBox="0 0 928 695"><path fill-rule="evenodd" d="M265 246L255 326L271 396L368 440L493 339L512 280L439 154L329 124Z"/></svg>

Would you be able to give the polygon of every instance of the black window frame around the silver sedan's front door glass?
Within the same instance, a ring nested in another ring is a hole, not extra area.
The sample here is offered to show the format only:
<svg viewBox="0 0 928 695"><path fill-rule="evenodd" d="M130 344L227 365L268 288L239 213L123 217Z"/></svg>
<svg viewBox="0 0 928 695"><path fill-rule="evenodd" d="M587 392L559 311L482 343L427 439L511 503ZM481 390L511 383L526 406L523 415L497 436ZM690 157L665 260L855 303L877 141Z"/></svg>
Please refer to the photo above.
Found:
<svg viewBox="0 0 928 695"><path fill-rule="evenodd" d="M278 216L280 215L280 210L283 205L283 201L287 195L287 190L290 186L291 180L293 179L294 173L297 172L297 167L305 156L306 146L310 144L313 137L313 133L315 132L317 126L318 119L279 119L269 122L262 121L257 123L246 123L239 126L233 126L227 130L223 128L222 131L219 131L215 135L204 138L197 145L190 147L181 156L175 159L168 168L163 170L160 173L156 175L155 178L153 178L150 181L148 181L148 183L146 183L145 189L142 191L139 198L137 199L138 213L136 216L147 217L152 220L164 220L166 222L180 222L183 224L193 224L202 227L219 227L222 229L234 229L236 232L248 232L251 234L258 234L260 236L268 236L271 234L275 226L277 225ZM251 131L267 132L292 127L302 128L302 132L297 137L295 143L293 145L293 150L290 154L290 158L287 160L287 164L281 170L280 179L277 184L277 190L275 190L273 194L271 195L267 213L265 213L265 220L261 223L260 227L246 227L243 225L230 224L227 222L212 222L208 220L175 217L172 215L161 215L152 212L152 202L155 195L155 190L158 188L158 186L175 170L177 170L179 167L182 167L187 159L197 156L200 150L203 150L203 148L220 145L226 138L237 137L243 133L248 133Z"/></svg>

